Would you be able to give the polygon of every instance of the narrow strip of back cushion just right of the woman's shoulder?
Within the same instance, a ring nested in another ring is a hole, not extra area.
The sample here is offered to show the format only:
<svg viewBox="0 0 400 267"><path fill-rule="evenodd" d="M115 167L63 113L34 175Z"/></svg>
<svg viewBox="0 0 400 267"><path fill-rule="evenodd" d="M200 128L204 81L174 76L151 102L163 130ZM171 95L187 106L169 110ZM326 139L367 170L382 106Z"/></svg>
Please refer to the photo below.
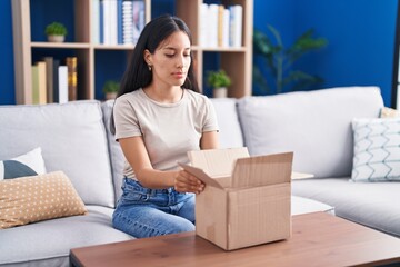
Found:
<svg viewBox="0 0 400 267"><path fill-rule="evenodd" d="M243 147L243 136L241 132L237 99L234 98L211 98L216 109L219 126L220 148Z"/></svg>

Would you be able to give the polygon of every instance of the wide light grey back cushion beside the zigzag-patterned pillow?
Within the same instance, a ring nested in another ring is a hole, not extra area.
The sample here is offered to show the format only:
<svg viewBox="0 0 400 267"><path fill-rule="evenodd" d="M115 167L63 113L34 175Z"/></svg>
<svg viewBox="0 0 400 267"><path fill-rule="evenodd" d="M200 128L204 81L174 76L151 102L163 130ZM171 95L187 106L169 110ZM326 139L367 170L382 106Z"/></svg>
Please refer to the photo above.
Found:
<svg viewBox="0 0 400 267"><path fill-rule="evenodd" d="M331 88L240 99L239 118L251 155L294 151L293 170L317 177L350 176L351 121L377 118L377 87Z"/></svg>

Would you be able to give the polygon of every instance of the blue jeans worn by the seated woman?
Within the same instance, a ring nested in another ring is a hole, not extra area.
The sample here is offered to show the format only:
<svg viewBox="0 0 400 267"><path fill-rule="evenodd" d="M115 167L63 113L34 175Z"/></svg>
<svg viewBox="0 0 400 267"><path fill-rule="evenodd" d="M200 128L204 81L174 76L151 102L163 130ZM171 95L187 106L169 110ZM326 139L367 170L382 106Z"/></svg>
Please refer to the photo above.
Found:
<svg viewBox="0 0 400 267"><path fill-rule="evenodd" d="M194 195L173 188L149 189L124 178L112 225L137 238L192 231Z"/></svg>

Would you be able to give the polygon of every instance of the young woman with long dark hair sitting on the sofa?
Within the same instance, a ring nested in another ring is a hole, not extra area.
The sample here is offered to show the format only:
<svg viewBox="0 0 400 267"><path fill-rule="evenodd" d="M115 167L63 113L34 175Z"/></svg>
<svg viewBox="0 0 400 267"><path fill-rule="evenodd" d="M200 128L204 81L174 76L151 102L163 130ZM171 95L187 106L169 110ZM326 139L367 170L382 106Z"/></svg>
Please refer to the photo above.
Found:
<svg viewBox="0 0 400 267"><path fill-rule="evenodd" d="M113 227L138 238L194 230L194 194L204 185L178 162L188 162L190 150L217 148L218 125L198 93L181 19L162 16L144 27L111 121L127 159Z"/></svg>

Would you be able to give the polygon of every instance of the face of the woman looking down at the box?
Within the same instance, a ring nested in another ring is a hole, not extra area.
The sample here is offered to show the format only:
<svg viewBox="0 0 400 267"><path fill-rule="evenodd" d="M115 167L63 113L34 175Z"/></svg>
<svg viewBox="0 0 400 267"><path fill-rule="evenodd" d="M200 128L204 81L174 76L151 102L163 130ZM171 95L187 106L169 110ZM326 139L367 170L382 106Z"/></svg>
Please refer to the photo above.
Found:
<svg viewBox="0 0 400 267"><path fill-rule="evenodd" d="M152 68L153 82L168 87L182 86L191 63L189 37L182 31L172 33L154 53L146 50L144 60Z"/></svg>

